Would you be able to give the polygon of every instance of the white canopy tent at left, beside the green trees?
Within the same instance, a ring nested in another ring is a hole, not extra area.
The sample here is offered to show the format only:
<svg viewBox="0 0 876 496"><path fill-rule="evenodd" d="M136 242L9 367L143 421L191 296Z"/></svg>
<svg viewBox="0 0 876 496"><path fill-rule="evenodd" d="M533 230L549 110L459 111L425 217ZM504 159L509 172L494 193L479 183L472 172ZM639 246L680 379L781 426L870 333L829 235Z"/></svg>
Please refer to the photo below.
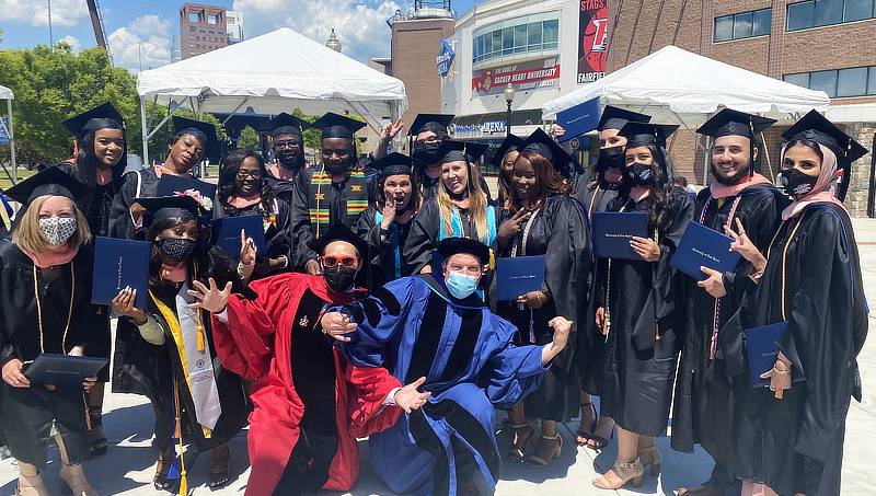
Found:
<svg viewBox="0 0 876 496"><path fill-rule="evenodd" d="M195 113L279 114L295 107L307 114L349 112L379 128L407 107L404 83L283 27L197 57L140 72L137 78L147 141L170 116L150 130L146 102L170 105L172 113L187 102ZM172 114L171 113L171 114Z"/></svg>

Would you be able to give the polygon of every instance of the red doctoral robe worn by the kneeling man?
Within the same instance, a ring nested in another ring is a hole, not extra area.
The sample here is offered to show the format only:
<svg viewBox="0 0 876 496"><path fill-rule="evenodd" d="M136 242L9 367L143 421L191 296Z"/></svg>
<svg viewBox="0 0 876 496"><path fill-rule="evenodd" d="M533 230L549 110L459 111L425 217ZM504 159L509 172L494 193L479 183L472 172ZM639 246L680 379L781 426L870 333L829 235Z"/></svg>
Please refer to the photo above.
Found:
<svg viewBox="0 0 876 496"><path fill-rule="evenodd" d="M387 395L401 387L389 371L354 367L336 348L327 348L318 341L330 339L319 326L324 304L346 304L353 300L351 293L331 290L322 276L280 274L251 282L246 297L232 295L228 302L228 324L212 318L216 353L222 366L255 380L247 437L252 465L247 496L274 493L302 426L310 425L321 414L313 408L311 420L302 424L307 399L314 397L313 391L306 392L302 388L312 389L310 384L320 378L328 377L334 382L337 427L337 451L327 469L324 489L351 488L359 472L356 438L384 430L399 419L400 408L383 406ZM297 336L299 349L293 346ZM318 343L315 347L313 343ZM328 364L332 358L334 367ZM293 380L293 370L299 376L314 370L316 376ZM331 389L331 383L324 388ZM322 401L324 406L324 397ZM309 463L315 465L313 461Z"/></svg>

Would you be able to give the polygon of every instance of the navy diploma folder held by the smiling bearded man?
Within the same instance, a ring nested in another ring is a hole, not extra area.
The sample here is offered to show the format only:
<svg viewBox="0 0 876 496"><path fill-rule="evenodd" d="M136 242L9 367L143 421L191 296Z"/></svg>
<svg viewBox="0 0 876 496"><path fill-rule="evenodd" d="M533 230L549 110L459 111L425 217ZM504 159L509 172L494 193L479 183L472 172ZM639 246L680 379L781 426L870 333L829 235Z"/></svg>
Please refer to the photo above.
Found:
<svg viewBox="0 0 876 496"><path fill-rule="evenodd" d="M676 253L669 265L693 277L703 280L706 275L700 266L706 266L719 273L729 273L736 269L739 263L739 253L730 250L733 239L699 222L689 222Z"/></svg>

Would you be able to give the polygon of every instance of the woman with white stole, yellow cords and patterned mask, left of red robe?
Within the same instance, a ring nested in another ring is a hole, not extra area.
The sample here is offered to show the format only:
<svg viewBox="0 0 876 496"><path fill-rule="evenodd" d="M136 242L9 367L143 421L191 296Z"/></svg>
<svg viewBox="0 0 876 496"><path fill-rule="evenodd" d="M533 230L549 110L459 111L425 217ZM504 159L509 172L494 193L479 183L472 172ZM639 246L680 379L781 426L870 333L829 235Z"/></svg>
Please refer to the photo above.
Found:
<svg viewBox="0 0 876 496"><path fill-rule="evenodd" d="M226 443L246 424L249 401L240 377L216 359L210 318L191 307L195 302L191 292L195 280L207 284L215 277L224 286L235 281L237 275L220 249L207 249L206 211L193 196L137 201L150 212L146 232L152 243L149 298L147 308L138 309L136 291L126 289L113 301L122 316L113 392L142 394L152 403L152 445L159 450L157 489L175 493L185 484L183 443L210 452L208 486L219 488L231 478ZM251 259L241 262L252 265ZM175 432L182 432L177 453Z"/></svg>

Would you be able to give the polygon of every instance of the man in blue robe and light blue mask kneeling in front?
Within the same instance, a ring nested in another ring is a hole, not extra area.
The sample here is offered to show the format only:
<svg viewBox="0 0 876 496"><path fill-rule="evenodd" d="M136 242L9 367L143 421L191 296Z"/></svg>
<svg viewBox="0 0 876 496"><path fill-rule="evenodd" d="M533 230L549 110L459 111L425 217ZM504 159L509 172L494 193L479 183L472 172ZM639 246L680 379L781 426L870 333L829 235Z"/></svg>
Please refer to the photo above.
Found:
<svg viewBox="0 0 876 496"><path fill-rule="evenodd" d="M426 378L428 403L369 441L371 463L393 492L493 494L502 470L494 407L508 410L538 388L572 322L553 319L548 345L514 346L517 328L475 293L487 246L448 238L438 252L443 276L394 280L334 308L322 326L354 365L385 367L402 383Z"/></svg>

